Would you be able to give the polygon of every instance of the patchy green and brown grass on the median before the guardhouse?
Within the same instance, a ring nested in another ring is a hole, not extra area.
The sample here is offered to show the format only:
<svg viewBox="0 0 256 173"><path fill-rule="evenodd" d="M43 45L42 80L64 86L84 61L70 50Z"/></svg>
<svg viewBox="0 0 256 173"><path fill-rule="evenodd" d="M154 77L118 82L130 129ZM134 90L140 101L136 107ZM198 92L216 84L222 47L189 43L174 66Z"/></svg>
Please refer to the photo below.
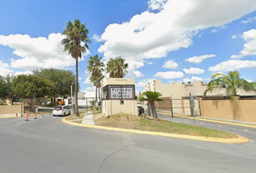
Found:
<svg viewBox="0 0 256 173"><path fill-rule="evenodd" d="M128 117L128 118L127 118ZM112 115L101 117L95 121L95 125L102 125L114 128L127 128L135 130L148 130L163 133L174 133L189 136L205 136L212 138L237 138L233 133L210 128L202 128L195 125L174 123L165 120L148 120L135 115Z"/></svg>

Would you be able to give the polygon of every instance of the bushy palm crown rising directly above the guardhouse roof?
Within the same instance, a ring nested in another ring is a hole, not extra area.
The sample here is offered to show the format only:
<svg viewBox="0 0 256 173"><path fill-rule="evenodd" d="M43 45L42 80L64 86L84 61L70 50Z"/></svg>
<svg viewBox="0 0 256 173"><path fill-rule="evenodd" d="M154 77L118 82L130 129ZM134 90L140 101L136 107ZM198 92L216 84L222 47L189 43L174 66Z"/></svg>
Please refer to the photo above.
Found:
<svg viewBox="0 0 256 173"><path fill-rule="evenodd" d="M127 74L127 68L128 63L125 63L125 59L119 56L109 59L106 70L110 78L124 78Z"/></svg>

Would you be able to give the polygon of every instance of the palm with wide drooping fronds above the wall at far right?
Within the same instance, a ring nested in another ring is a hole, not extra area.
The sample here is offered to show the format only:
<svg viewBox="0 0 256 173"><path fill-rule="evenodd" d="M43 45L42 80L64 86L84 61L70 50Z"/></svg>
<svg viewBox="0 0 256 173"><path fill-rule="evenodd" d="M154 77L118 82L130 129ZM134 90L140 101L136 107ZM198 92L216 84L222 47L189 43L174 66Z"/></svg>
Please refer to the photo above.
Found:
<svg viewBox="0 0 256 173"><path fill-rule="evenodd" d="M233 99L239 90L245 92L255 92L255 83L248 82L240 77L239 71L230 71L228 74L213 74L211 81L208 83L208 88L204 92L204 97L207 92L212 92L213 89L226 89L226 95Z"/></svg>

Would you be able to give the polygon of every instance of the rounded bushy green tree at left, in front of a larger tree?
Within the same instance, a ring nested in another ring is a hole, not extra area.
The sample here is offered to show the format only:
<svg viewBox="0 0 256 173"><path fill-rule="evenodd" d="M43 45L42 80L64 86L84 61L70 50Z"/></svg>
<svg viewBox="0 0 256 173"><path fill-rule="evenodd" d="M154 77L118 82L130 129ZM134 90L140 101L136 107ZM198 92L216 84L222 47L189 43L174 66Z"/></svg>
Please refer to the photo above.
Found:
<svg viewBox="0 0 256 173"><path fill-rule="evenodd" d="M12 81L12 90L23 98L44 97L51 93L53 84L47 79L35 75L19 75Z"/></svg>

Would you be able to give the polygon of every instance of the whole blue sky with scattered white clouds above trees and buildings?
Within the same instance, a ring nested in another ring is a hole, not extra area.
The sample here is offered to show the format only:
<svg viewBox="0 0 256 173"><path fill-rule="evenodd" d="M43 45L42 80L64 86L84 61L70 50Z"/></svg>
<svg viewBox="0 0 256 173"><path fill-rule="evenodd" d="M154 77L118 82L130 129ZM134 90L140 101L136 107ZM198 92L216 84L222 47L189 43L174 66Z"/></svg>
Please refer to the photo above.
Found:
<svg viewBox="0 0 256 173"><path fill-rule="evenodd" d="M216 72L238 70L256 81L255 0L9 0L0 10L0 75L34 69L75 71L59 44L67 21L80 19L90 32L79 62L81 91L94 91L88 58L122 56L136 90L163 84L209 81Z"/></svg>

